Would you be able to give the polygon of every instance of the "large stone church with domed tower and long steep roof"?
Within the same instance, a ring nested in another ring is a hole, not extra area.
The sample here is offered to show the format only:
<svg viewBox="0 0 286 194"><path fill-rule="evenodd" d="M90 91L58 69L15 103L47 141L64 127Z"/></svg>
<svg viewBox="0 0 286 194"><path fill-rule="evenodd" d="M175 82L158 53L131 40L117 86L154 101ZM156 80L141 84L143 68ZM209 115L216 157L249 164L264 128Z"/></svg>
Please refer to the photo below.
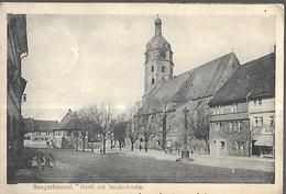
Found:
<svg viewBox="0 0 286 194"><path fill-rule="evenodd" d="M148 147L162 148L163 142L172 149L182 149L185 135L184 110L188 110L189 124L190 121L195 121L191 118L198 118L198 115L210 114L208 103L240 68L240 62L234 53L229 53L174 76L172 46L163 36L162 20L156 18L154 24L154 36L147 43L145 50L142 110L144 114L162 115L163 113L166 122L165 137L164 132L163 137L160 133L150 140ZM200 117L206 117L204 115ZM208 144L209 134L202 135L199 139L188 139L190 149L196 149L196 145L198 147L202 145L202 151L209 152Z"/></svg>

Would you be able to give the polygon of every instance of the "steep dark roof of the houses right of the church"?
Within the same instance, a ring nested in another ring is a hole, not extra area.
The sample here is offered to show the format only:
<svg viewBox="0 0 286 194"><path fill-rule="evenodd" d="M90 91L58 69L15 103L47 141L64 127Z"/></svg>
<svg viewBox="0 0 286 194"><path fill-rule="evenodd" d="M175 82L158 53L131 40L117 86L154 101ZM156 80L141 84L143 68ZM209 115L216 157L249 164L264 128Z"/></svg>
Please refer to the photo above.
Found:
<svg viewBox="0 0 286 194"><path fill-rule="evenodd" d="M209 105L275 96L275 54L242 65L217 91Z"/></svg>

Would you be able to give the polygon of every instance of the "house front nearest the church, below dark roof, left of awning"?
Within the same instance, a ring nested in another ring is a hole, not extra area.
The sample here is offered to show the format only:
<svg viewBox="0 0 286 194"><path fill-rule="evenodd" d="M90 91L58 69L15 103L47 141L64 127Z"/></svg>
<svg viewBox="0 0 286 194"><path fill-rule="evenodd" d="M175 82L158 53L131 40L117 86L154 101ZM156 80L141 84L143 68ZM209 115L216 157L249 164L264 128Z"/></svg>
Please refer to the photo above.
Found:
<svg viewBox="0 0 286 194"><path fill-rule="evenodd" d="M246 102L211 109L210 155L249 156L250 121Z"/></svg>

